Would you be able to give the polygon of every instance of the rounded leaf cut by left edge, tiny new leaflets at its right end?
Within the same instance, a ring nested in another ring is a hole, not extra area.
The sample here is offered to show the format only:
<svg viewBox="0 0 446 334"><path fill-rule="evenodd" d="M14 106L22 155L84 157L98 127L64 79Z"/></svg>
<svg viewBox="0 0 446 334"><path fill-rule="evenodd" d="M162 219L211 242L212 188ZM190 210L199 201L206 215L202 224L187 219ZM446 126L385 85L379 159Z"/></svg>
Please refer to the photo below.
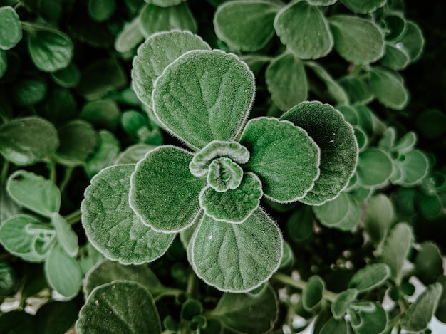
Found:
<svg viewBox="0 0 446 334"><path fill-rule="evenodd" d="M55 244L55 233L32 216L18 214L0 225L0 243L28 262L42 262ZM36 248L43 251L36 251Z"/></svg>

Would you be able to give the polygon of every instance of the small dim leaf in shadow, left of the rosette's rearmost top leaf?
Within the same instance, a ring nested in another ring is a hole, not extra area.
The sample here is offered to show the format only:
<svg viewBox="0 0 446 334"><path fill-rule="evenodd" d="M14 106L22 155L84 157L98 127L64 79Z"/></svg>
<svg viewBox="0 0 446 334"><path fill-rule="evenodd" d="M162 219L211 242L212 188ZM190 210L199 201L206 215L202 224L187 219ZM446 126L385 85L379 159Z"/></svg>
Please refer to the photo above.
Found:
<svg viewBox="0 0 446 334"><path fill-rule="evenodd" d="M118 127L120 109L113 100L93 100L85 103L80 118L101 129L115 130Z"/></svg>

